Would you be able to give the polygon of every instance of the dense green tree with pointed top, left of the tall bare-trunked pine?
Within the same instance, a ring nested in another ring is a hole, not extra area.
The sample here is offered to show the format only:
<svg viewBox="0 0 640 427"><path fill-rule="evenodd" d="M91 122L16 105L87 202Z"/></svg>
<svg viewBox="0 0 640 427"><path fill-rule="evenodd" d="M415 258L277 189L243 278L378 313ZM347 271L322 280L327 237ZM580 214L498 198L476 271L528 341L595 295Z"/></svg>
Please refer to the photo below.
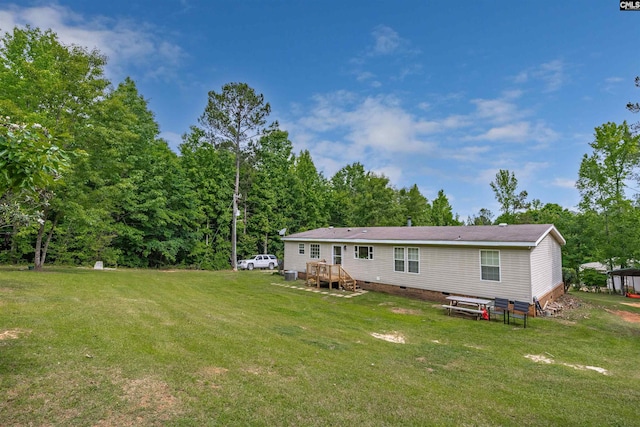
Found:
<svg viewBox="0 0 640 427"><path fill-rule="evenodd" d="M66 249L93 251L95 257L106 253L126 266L176 263L190 251L197 210L179 160L159 139L135 83L126 79L107 94L89 124L79 133L88 155L67 186L76 209L66 220L82 234L92 230L91 240L101 245L90 249L77 236ZM73 235L69 228L65 237Z"/></svg>

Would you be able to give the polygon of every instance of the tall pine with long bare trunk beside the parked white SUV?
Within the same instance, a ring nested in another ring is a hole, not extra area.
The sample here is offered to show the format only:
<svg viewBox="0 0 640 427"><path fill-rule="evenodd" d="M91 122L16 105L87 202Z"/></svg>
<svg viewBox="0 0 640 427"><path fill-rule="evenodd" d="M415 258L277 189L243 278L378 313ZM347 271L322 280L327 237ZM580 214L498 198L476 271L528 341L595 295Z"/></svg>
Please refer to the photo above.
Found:
<svg viewBox="0 0 640 427"><path fill-rule="evenodd" d="M240 165L251 154L254 139L262 132L271 112L264 96L246 83L227 83L221 92L210 91L207 106L199 122L209 141L215 146L230 149L235 155L235 185L232 200L231 263L237 270L237 212L240 195Z"/></svg>

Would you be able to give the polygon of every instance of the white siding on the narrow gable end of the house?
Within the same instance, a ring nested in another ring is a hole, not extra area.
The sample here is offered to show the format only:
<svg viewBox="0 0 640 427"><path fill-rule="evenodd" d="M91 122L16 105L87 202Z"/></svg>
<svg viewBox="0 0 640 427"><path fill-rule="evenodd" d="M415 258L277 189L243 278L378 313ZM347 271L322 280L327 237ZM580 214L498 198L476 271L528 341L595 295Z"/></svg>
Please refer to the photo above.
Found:
<svg viewBox="0 0 640 427"><path fill-rule="evenodd" d="M560 244L548 234L531 253L531 290L541 297L562 282Z"/></svg>

